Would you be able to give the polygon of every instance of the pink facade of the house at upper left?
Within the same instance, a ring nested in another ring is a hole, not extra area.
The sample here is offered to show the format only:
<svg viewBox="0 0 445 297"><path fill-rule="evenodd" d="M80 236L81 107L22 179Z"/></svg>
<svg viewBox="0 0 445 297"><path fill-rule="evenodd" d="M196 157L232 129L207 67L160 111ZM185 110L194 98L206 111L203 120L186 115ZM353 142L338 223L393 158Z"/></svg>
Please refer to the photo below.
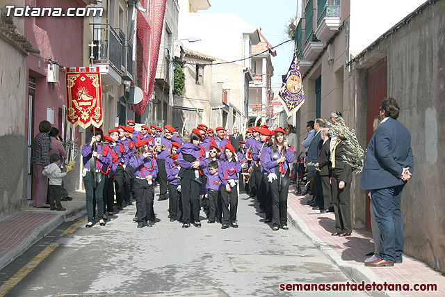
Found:
<svg viewBox="0 0 445 297"><path fill-rule="evenodd" d="M36 2L39 7L62 7L64 11L69 7L85 6L76 0L25 1L29 6L35 6ZM47 108L54 109L53 126L60 130L58 112L63 104L66 105L65 71L59 72L60 83L47 83L46 58L51 56L65 67L83 66L83 17L25 17L24 35L40 50L38 56L30 54L27 61L28 74L36 79L34 135L38 134L39 123L47 118Z"/></svg>

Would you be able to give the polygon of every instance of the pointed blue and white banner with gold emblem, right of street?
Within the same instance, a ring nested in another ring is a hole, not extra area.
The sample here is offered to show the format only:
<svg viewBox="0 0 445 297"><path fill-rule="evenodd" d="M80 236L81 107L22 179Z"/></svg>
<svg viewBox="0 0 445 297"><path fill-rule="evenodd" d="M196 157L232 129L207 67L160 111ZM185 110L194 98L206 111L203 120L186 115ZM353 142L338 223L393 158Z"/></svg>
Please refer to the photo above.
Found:
<svg viewBox="0 0 445 297"><path fill-rule="evenodd" d="M286 111L288 117L290 113L298 111L302 104L305 103L305 92L303 91L301 80L300 63L298 63L296 51L293 53L291 66L289 67L286 79L284 79L278 95L280 95L284 111Z"/></svg>

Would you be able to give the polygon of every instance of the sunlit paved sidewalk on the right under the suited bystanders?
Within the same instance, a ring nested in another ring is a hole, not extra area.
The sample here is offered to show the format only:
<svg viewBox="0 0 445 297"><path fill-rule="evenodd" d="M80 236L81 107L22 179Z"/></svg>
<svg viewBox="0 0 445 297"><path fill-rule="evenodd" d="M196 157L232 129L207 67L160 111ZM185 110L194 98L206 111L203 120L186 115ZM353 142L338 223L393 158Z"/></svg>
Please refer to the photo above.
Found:
<svg viewBox="0 0 445 297"><path fill-rule="evenodd" d="M445 277L430 266L412 257L403 255L403 263L394 267L365 267L366 253L373 251L371 232L353 231L351 236L331 236L335 232L334 213L321 214L307 205L309 196L294 195L293 187L289 191L288 218L300 228L312 242L321 249L332 262L357 283L364 281L387 282L388 284L437 284L437 291L387 291L389 296L445 296ZM311 196L312 199L312 196ZM384 292L372 293L382 296Z"/></svg>

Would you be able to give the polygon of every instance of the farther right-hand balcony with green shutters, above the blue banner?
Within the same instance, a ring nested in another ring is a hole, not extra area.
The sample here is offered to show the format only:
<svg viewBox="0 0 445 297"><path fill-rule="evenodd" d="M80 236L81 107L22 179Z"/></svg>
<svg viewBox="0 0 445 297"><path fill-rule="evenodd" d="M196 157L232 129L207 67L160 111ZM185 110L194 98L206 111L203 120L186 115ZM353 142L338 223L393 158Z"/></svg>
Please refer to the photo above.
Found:
<svg viewBox="0 0 445 297"><path fill-rule="evenodd" d="M305 8L305 49L303 59L314 61L316 56L323 49L323 42L320 42L314 34L314 1L307 1Z"/></svg>

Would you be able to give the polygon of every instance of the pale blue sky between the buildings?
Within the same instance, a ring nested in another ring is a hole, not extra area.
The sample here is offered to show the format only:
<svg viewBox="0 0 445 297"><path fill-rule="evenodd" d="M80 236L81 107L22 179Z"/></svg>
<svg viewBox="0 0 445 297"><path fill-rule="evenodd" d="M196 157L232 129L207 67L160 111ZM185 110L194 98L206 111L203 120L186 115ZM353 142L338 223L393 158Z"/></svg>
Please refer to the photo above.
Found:
<svg viewBox="0 0 445 297"><path fill-rule="evenodd" d="M297 7L298 1L298 7ZM235 13L253 26L261 27L261 33L270 45L288 40L286 25L291 17L301 15L300 0L209 0L211 8L200 13ZM277 47L277 56L272 58L274 74L272 82L281 82L293 56L293 42Z"/></svg>

